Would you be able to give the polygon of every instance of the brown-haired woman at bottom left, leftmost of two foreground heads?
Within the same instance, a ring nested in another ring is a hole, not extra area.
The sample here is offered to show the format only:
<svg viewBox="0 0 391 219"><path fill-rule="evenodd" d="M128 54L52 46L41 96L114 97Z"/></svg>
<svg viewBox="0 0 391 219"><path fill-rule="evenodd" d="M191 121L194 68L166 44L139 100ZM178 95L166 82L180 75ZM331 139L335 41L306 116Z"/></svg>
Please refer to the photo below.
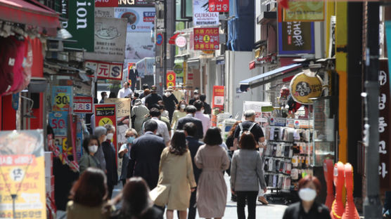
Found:
<svg viewBox="0 0 391 219"><path fill-rule="evenodd" d="M106 176L101 169L87 168L70 190L68 219L108 218Z"/></svg>

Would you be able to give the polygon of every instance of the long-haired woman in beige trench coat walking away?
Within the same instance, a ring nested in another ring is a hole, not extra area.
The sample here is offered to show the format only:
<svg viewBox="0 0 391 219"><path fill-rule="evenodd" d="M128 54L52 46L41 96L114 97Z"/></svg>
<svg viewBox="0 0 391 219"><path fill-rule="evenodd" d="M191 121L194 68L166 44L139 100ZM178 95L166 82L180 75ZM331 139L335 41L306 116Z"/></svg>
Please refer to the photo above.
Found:
<svg viewBox="0 0 391 219"><path fill-rule="evenodd" d="M185 219L191 192L196 189L197 184L184 131L176 131L172 136L171 145L162 152L159 185L169 185L167 219L173 218L174 210L179 211L179 219Z"/></svg>

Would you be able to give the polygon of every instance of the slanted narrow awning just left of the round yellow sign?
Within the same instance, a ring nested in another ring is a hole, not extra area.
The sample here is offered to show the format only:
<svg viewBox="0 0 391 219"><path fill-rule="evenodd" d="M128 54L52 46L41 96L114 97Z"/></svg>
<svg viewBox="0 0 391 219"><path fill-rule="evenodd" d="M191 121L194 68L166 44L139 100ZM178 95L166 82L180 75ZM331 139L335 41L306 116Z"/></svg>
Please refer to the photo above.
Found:
<svg viewBox="0 0 391 219"><path fill-rule="evenodd" d="M240 81L239 84L241 86L241 91L246 91L249 87L255 88L262 84L269 83L272 80L290 77L292 74L296 74L297 71L295 70L300 69L301 66L302 64L287 65L271 70L270 72L266 72L264 74L259 74L255 77L251 77L250 79Z"/></svg>

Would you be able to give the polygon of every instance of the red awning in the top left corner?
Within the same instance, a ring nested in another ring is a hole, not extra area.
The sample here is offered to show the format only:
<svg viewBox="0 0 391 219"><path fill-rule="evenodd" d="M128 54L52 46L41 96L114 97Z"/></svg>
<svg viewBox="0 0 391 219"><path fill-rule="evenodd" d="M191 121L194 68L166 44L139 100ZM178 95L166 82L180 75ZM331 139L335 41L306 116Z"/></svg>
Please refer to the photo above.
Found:
<svg viewBox="0 0 391 219"><path fill-rule="evenodd" d="M0 0L0 20L17 22L45 28L60 27L58 13L39 2L23 0Z"/></svg>

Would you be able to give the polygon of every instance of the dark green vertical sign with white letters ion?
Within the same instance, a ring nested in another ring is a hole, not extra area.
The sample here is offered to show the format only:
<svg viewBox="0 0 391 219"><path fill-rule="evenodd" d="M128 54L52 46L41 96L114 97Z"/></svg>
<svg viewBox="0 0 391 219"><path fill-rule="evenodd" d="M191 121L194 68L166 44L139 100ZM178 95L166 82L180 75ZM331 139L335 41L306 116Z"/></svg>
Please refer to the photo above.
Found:
<svg viewBox="0 0 391 219"><path fill-rule="evenodd" d="M94 0L68 0L68 22L65 29L77 43L67 43L70 48L84 48L94 52Z"/></svg>

